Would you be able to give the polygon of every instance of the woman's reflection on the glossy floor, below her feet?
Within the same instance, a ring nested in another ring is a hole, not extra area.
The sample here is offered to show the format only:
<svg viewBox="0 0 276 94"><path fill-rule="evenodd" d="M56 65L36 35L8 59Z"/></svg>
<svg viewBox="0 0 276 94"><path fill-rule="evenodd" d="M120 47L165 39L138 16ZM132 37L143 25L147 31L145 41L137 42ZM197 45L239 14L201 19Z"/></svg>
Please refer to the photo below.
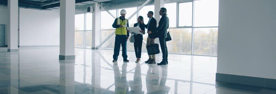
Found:
<svg viewBox="0 0 276 94"><path fill-rule="evenodd" d="M142 78L141 78L141 67L140 63L136 63L133 81L129 81L130 94L144 94L142 91Z"/></svg>

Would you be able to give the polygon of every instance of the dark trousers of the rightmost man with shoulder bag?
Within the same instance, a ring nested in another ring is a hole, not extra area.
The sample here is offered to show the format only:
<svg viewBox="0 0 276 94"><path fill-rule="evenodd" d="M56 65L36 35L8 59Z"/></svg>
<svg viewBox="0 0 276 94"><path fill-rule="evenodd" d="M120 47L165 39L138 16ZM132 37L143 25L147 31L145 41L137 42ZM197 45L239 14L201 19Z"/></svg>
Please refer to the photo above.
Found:
<svg viewBox="0 0 276 94"><path fill-rule="evenodd" d="M165 38L159 38L159 42L160 42L160 47L162 50L162 61L167 61L168 60L168 48L167 48L167 43L166 43L166 39Z"/></svg>

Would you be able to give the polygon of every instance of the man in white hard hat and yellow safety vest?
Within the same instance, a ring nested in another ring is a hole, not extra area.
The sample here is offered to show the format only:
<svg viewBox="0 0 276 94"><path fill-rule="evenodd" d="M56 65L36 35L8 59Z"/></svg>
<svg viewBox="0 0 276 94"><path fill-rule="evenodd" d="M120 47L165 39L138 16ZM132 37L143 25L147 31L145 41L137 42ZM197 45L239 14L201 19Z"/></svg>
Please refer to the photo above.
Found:
<svg viewBox="0 0 276 94"><path fill-rule="evenodd" d="M129 27L128 19L125 18L125 14L126 14L125 9L122 9L120 13L121 13L121 16L119 18L116 18L114 23L112 24L112 27L116 28L114 55L113 55L112 62L116 62L118 60L121 45L122 45L122 52L123 52L122 56L124 58L124 62L129 62L129 60L127 60L127 53L126 53L126 41L129 38L129 30L126 29L126 27Z"/></svg>

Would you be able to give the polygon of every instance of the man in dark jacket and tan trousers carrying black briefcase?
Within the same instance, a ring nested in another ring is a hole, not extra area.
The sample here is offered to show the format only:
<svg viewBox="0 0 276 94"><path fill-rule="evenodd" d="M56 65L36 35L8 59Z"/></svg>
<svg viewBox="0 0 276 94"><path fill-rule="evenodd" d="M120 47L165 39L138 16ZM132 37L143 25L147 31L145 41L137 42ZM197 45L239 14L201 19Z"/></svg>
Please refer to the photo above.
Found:
<svg viewBox="0 0 276 94"><path fill-rule="evenodd" d="M148 38L147 38L147 43L146 46L150 45L150 44L154 44L154 39L157 38L157 32L155 31L156 29L156 20L155 18L153 18L153 12L149 11L147 14L149 19L148 24L146 25L146 28L148 29L148 31L152 31L151 33L148 32ZM147 61L145 61L145 63L148 64L155 64L155 55L149 55L149 59Z"/></svg>

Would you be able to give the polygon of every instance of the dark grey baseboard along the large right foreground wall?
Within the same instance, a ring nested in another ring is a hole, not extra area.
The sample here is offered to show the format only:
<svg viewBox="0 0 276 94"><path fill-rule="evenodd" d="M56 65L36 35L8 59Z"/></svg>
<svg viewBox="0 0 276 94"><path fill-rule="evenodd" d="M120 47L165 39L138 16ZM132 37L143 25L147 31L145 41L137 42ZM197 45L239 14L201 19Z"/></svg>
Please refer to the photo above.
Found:
<svg viewBox="0 0 276 94"><path fill-rule="evenodd" d="M276 79L216 73L216 81L276 89Z"/></svg>

